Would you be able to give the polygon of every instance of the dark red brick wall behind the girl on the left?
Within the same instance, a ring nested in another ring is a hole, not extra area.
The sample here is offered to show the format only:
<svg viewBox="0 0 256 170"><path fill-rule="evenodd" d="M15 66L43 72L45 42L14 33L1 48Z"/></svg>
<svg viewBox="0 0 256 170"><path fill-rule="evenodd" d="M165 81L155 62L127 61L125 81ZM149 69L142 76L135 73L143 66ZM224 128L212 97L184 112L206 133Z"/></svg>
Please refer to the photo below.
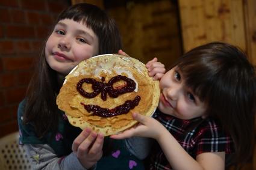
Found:
<svg viewBox="0 0 256 170"><path fill-rule="evenodd" d="M0 1L0 137L16 131L33 59L68 0Z"/></svg>

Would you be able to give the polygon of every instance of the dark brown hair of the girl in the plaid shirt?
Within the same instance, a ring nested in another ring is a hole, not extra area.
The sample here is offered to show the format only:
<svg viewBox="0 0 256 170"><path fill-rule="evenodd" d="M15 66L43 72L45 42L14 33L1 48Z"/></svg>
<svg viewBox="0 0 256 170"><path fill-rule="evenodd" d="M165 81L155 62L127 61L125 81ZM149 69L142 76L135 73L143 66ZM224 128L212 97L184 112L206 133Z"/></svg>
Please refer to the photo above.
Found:
<svg viewBox="0 0 256 170"><path fill-rule="evenodd" d="M187 87L207 104L234 141L236 162L244 163L254 148L256 111L255 67L231 44L214 42L196 47L176 62Z"/></svg>

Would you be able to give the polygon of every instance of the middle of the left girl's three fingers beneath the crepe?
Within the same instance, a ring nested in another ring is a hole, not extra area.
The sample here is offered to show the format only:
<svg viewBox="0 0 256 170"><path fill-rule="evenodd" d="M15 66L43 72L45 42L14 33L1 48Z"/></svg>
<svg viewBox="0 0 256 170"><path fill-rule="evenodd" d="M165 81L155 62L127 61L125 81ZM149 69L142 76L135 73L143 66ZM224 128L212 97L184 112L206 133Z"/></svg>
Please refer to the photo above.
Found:
<svg viewBox="0 0 256 170"><path fill-rule="evenodd" d="M95 142L97 133L91 132L90 135L80 144L77 148L77 157L83 157L85 153L88 153L90 146Z"/></svg>

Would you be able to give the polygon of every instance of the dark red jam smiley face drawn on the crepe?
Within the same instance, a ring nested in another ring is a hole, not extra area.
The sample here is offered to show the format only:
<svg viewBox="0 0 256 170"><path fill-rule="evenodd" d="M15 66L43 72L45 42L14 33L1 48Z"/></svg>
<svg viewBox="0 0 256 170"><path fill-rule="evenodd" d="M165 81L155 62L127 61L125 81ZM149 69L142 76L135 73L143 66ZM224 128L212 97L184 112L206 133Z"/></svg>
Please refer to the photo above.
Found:
<svg viewBox="0 0 256 170"><path fill-rule="evenodd" d="M93 98L101 93L101 99L105 101L107 100L107 93L110 97L116 98L120 94L132 92L136 88L136 83L133 79L122 75L112 77L108 83L104 82L105 77L102 77L101 80L102 82L98 82L92 78L81 79L76 85L76 90L81 94L81 96L86 98ZM114 88L113 84L119 80L124 80L126 82L125 86ZM92 84L93 92L89 93L83 90L83 83ZM87 112L93 112L94 115L99 117L114 117L116 115L127 114L131 109L134 109L139 105L139 102L140 96L136 96L134 100L127 100L122 105L116 106L113 109L101 108L98 105L85 105L83 102L81 102L81 105L84 106L84 109L86 109Z"/></svg>

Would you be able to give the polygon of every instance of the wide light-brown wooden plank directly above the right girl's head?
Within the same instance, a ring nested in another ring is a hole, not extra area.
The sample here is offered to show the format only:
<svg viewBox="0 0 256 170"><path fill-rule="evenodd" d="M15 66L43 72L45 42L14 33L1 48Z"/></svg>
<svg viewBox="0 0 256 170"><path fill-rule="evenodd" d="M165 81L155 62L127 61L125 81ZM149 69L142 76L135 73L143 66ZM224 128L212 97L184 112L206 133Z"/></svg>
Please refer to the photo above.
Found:
<svg viewBox="0 0 256 170"><path fill-rule="evenodd" d="M223 41L246 50L242 0L179 0L183 48Z"/></svg>

